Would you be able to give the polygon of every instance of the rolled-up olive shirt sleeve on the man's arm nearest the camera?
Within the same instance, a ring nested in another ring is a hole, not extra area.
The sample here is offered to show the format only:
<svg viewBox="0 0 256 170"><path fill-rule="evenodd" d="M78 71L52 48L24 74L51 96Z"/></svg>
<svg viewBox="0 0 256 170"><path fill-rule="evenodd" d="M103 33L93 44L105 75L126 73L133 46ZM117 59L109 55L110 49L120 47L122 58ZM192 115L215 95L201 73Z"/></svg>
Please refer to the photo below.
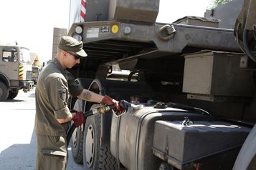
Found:
<svg viewBox="0 0 256 170"><path fill-rule="evenodd" d="M67 81L59 77L49 81L46 87L49 96L49 104L52 105L56 119L63 119L70 115L70 109L67 106L69 98Z"/></svg>

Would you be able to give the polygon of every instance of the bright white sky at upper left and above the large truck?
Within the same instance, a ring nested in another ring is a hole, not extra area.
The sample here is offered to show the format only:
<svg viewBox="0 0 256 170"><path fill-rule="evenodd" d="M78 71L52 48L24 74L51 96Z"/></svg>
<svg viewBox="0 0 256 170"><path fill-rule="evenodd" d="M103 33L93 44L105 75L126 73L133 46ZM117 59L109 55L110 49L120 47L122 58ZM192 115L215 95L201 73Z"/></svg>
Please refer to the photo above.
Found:
<svg viewBox="0 0 256 170"><path fill-rule="evenodd" d="M160 0L158 22L171 23L183 16L204 16L212 0ZM0 44L27 46L39 60L52 58L53 28L69 24L70 0L1 0Z"/></svg>

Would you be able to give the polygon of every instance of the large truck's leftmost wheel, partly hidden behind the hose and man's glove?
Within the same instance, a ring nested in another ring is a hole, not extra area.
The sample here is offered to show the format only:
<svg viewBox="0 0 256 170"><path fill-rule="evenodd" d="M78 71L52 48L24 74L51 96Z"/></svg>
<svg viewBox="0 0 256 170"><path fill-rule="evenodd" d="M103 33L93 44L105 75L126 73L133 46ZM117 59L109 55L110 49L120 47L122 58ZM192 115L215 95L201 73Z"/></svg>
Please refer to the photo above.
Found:
<svg viewBox="0 0 256 170"><path fill-rule="evenodd" d="M82 111L82 100L77 99L75 101L74 108L76 111ZM75 129L75 131L72 134L71 138L71 149L72 149L72 156L74 161L77 164L82 164L82 143L83 143L83 137L84 137L84 131L82 126L79 126Z"/></svg>

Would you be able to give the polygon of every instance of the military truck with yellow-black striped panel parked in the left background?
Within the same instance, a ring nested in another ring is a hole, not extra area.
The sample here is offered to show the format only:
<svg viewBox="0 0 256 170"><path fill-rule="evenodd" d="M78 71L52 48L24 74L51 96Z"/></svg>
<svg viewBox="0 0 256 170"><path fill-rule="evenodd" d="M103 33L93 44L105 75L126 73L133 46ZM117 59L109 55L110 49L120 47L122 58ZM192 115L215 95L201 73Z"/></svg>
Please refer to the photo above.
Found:
<svg viewBox="0 0 256 170"><path fill-rule="evenodd" d="M30 91L34 82L29 49L17 45L0 45L0 101L14 99L19 89Z"/></svg>

